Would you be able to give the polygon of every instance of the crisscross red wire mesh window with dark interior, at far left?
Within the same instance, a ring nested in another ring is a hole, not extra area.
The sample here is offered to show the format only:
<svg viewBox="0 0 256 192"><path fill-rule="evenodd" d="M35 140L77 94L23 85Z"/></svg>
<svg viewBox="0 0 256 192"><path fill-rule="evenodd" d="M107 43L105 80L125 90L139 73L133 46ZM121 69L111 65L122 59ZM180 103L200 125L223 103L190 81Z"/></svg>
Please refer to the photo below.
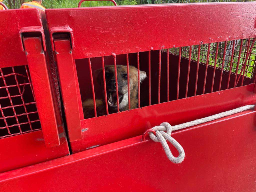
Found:
<svg viewBox="0 0 256 192"><path fill-rule="evenodd" d="M41 130L28 67L0 72L0 138Z"/></svg>

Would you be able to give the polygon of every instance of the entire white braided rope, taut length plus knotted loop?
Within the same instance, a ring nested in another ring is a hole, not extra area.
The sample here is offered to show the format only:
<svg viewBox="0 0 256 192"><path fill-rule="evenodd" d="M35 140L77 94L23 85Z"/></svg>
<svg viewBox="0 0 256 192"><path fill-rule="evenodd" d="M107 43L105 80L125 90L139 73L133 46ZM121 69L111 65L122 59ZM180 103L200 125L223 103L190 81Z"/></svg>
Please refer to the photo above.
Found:
<svg viewBox="0 0 256 192"><path fill-rule="evenodd" d="M246 111L249 109L254 109L255 105L246 105L243 107L239 107L237 109L233 109L230 111L226 111L226 112L222 112L222 113L218 113L216 115L211 115L209 117L205 117L202 119L197 119L194 121L190 121L187 123L182 123L179 125L174 125L171 126L169 123L164 122L161 123L159 126L155 126L152 129L156 131L156 135L154 135L152 132L149 132L149 136L150 138L155 141L155 142L160 142L164 148L164 151L166 153L166 156L168 157L168 159L173 162L173 163L181 163L184 160L185 157L185 152L183 147L171 136L172 131L176 131L176 130L180 130L180 129L184 129L187 127L191 127L194 125L198 125L201 123L206 123L209 121L213 121L222 117L226 117L228 115L232 115L232 114L236 114L242 111ZM179 156L178 157L174 157L166 140L168 140L179 152Z"/></svg>

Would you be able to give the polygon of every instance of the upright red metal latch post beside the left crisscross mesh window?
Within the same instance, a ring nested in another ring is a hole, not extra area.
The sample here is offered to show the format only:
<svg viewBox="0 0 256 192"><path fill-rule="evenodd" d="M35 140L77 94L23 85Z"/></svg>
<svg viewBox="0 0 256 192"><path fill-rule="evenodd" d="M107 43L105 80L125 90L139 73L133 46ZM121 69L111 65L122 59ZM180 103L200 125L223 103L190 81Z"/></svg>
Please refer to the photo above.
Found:
<svg viewBox="0 0 256 192"><path fill-rule="evenodd" d="M22 38L22 49L25 51L28 61L45 145L46 147L59 146L58 126L44 52L46 48L44 36L41 36L43 33L41 29L38 29L37 31L20 30L19 34Z"/></svg>

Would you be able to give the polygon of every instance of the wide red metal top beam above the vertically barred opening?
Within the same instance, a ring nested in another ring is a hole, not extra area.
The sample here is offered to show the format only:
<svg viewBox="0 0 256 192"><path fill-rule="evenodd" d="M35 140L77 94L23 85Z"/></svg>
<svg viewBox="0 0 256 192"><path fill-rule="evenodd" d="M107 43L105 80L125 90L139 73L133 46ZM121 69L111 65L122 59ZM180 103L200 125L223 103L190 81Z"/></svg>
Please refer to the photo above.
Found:
<svg viewBox="0 0 256 192"><path fill-rule="evenodd" d="M46 16L50 31L55 29L55 33L64 32L64 28L67 28L66 32L72 32L72 47L75 44L73 58L82 59L111 55L112 52L120 55L149 51L151 48L159 50L162 46L184 47L201 42L254 37L253 13L248 13L250 17L241 17L239 14L248 7L253 9L255 3L110 6L98 7L96 12L94 7L48 9ZM128 13L129 22L124 24ZM212 18L210 24L205 15ZM173 16L177 19L166 19ZM76 19L71 21L71 18ZM200 20L200 23L195 20ZM110 30L115 31L114 38ZM92 37L98 38L97 43Z"/></svg>

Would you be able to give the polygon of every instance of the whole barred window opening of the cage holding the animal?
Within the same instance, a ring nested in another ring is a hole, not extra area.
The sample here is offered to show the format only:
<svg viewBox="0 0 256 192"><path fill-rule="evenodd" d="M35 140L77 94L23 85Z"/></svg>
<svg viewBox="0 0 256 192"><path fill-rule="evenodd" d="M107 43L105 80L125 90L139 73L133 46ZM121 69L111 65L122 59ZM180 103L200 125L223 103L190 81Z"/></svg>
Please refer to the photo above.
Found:
<svg viewBox="0 0 256 192"><path fill-rule="evenodd" d="M255 83L255 51L255 38L251 38L79 59L76 69L81 99L91 99L91 111L86 108L84 115L97 117L124 111L124 107L120 109L120 102L123 102L124 94L130 96L129 91L133 91L129 89L130 83L137 84L137 95L126 98L126 110L131 109L131 99L136 99L136 108L140 108ZM128 78L124 80L125 92L123 87L121 90L117 86L116 95L121 97L116 100L114 110L110 109L109 95L112 93L109 92L109 78L106 77L110 65L112 80L115 82L117 75L118 83L123 80L123 74L129 74L129 66L138 70L136 74L130 73L129 81ZM120 69L119 65L125 67ZM100 70L101 67L104 70ZM119 74L121 70L124 72ZM140 80L139 71L146 72L146 79Z"/></svg>

